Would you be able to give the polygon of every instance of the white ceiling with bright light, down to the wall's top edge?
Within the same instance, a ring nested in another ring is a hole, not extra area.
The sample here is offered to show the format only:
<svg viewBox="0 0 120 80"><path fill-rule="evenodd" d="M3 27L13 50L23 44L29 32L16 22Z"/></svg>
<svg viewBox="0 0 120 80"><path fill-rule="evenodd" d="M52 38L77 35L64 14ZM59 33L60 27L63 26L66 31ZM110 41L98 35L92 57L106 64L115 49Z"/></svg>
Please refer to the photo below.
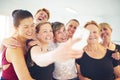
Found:
<svg viewBox="0 0 120 80"><path fill-rule="evenodd" d="M33 14L40 9L50 10L52 17L119 16L120 0L0 0L0 14L11 15L14 9L27 9Z"/></svg>

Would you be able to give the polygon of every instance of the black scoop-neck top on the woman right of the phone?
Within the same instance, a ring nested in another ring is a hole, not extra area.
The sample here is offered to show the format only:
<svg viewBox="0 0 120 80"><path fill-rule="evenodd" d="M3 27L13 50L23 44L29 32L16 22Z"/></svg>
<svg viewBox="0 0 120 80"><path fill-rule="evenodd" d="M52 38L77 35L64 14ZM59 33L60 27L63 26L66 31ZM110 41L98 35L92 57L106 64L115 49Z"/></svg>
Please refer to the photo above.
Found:
<svg viewBox="0 0 120 80"><path fill-rule="evenodd" d="M92 80L114 80L113 67L119 63L111 57L112 53L113 51L107 50L103 58L95 59L84 52L82 58L76 60L82 75Z"/></svg>

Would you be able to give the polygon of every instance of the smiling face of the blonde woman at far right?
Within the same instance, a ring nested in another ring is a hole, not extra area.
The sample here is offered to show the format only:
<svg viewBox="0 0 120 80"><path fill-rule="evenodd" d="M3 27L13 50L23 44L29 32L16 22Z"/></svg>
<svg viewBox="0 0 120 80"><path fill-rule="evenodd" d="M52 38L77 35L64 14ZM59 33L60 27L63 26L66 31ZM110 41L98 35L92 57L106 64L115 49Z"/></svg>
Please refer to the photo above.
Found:
<svg viewBox="0 0 120 80"><path fill-rule="evenodd" d="M102 40L108 40L111 38L111 29L109 29L108 27L104 27L100 30L100 36Z"/></svg>

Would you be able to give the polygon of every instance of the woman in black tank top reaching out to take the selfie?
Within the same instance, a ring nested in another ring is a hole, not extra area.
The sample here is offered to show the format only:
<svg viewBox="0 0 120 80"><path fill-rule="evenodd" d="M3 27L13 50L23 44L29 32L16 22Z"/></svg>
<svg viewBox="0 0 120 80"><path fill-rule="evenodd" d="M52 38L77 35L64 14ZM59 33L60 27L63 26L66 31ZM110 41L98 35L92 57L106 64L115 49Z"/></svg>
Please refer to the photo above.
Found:
<svg viewBox="0 0 120 80"><path fill-rule="evenodd" d="M50 51L49 44L53 42L53 30L49 22L39 23L36 26L36 35L41 46L31 46L28 49L27 54L28 69L31 76L36 80L51 80L54 62L61 62L81 56L80 51L71 49L74 42L72 44L67 42L67 45L64 44L63 46ZM76 56L74 55L75 52L77 53L75 54Z"/></svg>

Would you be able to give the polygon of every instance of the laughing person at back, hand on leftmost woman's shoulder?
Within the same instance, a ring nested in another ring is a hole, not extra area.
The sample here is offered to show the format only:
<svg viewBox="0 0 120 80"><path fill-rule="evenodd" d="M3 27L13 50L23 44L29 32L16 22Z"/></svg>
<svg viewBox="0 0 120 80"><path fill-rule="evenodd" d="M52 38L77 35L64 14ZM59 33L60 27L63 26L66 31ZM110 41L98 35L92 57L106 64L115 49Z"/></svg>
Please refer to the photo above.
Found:
<svg viewBox="0 0 120 80"><path fill-rule="evenodd" d="M47 22L49 20L49 18L50 18L49 10L47 10L46 8L42 8L36 12L34 21L35 21L35 24L38 24L39 22ZM16 34L13 34L12 36L14 37L14 36L16 36ZM34 38L34 40L36 40L36 38ZM32 42L32 44L34 44L34 43L36 43L36 42ZM2 44L0 44L0 52L6 47L15 48L16 46L20 47L20 44L14 38L11 38L11 37L5 38L5 39L3 39Z"/></svg>

